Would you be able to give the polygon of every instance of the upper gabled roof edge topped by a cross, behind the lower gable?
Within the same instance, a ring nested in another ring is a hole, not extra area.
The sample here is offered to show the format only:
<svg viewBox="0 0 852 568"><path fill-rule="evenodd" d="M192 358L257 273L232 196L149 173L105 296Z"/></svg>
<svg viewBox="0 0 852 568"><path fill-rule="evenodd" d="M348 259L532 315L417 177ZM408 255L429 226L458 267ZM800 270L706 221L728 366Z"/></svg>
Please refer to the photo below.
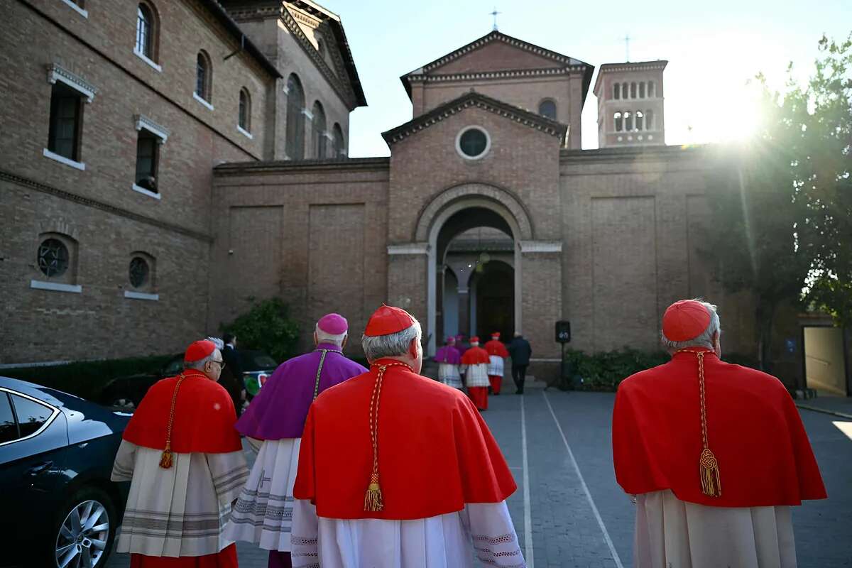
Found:
<svg viewBox="0 0 852 568"><path fill-rule="evenodd" d="M437 71L435 74L440 74L440 66L444 66L452 60L457 60L463 55L469 54L471 51L475 49L479 49L488 43L492 42L503 42L508 43L509 45L515 47L516 49L521 49L524 51L529 51L534 55L538 55L540 57L544 57L550 60L553 60L555 63L559 64L562 70L570 70L575 72L583 73L583 100L585 101L586 94L589 92L589 85L591 83L591 76L595 72L595 66L591 66L584 61L579 59L574 59L573 57L569 57L567 55L562 55L560 53L556 53L556 51L552 51L550 49L545 49L534 43L525 42L522 39L518 39L517 37L511 37L503 32L490 32L485 36L476 39L473 42L464 45L455 51L452 51L449 54L446 54L438 59L427 63L426 65L420 67L419 69L415 69L410 73L406 73L402 77L400 77L400 81L402 81L403 86L406 88L406 93L408 93L408 97L412 97L412 81L424 80L430 73ZM509 71L509 70L507 70ZM554 70L552 68L548 70L542 70L542 72L547 72L547 74L551 74ZM526 74L530 74L529 70L525 70ZM486 78L493 75L494 77L504 77L506 75L505 72L486 72L486 73L476 73L476 78ZM481 77L480 77L481 76ZM461 78L461 77L460 77Z"/></svg>

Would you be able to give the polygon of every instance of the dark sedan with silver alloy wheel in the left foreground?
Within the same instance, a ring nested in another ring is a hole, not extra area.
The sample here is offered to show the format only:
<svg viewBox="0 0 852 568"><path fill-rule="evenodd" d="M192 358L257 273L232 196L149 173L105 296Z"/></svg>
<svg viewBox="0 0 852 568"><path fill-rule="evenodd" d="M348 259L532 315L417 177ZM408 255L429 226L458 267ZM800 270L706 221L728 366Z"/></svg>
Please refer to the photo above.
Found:
<svg viewBox="0 0 852 568"><path fill-rule="evenodd" d="M124 412L0 376L0 565L107 564L130 484L110 481Z"/></svg>

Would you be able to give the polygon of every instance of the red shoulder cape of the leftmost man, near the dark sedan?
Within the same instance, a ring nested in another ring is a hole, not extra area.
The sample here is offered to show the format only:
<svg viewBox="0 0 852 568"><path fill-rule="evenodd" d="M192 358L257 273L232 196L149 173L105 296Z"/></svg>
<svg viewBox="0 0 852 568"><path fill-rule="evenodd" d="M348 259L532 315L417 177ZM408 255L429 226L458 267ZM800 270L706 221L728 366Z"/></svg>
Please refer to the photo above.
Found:
<svg viewBox="0 0 852 568"><path fill-rule="evenodd" d="M237 413L225 387L196 370L184 371L175 403L171 450L186 454L220 454L242 448L233 424ZM122 436L128 442L154 450L165 449L166 427L177 376L148 389Z"/></svg>

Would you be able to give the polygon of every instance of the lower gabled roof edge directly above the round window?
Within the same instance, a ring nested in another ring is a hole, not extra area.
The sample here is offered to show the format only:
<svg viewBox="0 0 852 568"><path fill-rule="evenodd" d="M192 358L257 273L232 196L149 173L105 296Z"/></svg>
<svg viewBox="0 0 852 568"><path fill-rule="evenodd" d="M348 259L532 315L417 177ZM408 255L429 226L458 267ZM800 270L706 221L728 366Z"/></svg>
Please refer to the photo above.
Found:
<svg viewBox="0 0 852 568"><path fill-rule="evenodd" d="M395 129L383 132L382 137L384 138L384 141L387 142L388 146L391 146L395 142L404 140L408 136L413 135L420 130L428 129L433 124L440 123L440 121L445 118L449 118L457 112L461 112L465 108L469 108L471 106L481 108L488 112L493 112L501 117L513 120L516 123L521 123L532 129L540 130L545 134L556 136L560 139L560 141L564 141L565 133L568 129L565 124L557 123L555 120L550 120L550 118L544 118L535 112L529 112L519 106L509 105L504 103L502 100L492 99L490 96L470 91L457 99L453 99L443 105L436 106L431 111L421 114L416 118L412 118L412 120L397 126Z"/></svg>

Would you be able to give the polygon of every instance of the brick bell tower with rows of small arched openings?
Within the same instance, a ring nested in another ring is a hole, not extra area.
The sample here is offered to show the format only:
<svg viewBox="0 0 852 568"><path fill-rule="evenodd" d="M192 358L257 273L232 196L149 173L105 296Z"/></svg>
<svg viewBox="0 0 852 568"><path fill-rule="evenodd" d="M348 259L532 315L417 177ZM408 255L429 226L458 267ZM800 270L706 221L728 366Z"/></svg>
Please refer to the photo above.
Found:
<svg viewBox="0 0 852 568"><path fill-rule="evenodd" d="M665 144L663 71L668 61L607 63L595 83L598 147Z"/></svg>

